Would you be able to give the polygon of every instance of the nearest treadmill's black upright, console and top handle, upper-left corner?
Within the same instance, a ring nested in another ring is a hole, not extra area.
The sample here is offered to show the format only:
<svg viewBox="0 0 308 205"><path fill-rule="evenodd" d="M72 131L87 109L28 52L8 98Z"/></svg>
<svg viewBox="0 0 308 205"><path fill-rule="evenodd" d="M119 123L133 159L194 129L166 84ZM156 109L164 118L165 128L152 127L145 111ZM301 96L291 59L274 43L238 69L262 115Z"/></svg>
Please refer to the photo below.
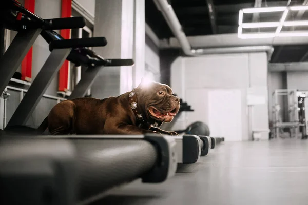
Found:
<svg viewBox="0 0 308 205"><path fill-rule="evenodd" d="M5 0L1 3L0 24L6 29L18 32L7 51L0 56L0 93L2 93L43 29L82 28L86 22L83 17L42 19L29 12L19 2ZM60 54L60 51L57 53Z"/></svg>

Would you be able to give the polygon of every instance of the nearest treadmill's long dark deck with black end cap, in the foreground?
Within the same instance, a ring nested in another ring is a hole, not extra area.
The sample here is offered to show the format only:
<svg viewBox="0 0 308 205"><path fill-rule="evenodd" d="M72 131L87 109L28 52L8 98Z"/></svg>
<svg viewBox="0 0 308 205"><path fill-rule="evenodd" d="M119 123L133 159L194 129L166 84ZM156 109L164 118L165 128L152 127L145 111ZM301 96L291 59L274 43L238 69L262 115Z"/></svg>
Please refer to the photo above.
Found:
<svg viewBox="0 0 308 205"><path fill-rule="evenodd" d="M177 169L176 142L158 135L2 137L1 204L79 204L137 178Z"/></svg>

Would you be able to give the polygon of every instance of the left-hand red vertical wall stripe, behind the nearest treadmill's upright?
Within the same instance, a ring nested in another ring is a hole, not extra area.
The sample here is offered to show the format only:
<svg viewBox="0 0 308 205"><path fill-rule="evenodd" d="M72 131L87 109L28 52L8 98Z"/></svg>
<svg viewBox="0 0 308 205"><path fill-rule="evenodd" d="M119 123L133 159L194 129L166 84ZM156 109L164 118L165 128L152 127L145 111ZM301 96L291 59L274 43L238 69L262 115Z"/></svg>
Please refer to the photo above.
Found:
<svg viewBox="0 0 308 205"><path fill-rule="evenodd" d="M34 13L35 0L25 0L24 7ZM22 61L22 80L31 81L32 77L32 47Z"/></svg>

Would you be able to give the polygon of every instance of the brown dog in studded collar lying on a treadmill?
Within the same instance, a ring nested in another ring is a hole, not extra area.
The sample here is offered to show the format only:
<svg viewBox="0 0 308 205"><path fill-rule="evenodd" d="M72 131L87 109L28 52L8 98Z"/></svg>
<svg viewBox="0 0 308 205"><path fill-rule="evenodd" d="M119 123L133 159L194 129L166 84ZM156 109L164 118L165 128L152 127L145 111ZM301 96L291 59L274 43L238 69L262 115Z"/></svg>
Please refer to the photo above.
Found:
<svg viewBox="0 0 308 205"><path fill-rule="evenodd" d="M164 84L141 84L131 92L105 99L77 98L55 105L41 124L59 134L144 134L178 135L157 127L171 122L180 99Z"/></svg>

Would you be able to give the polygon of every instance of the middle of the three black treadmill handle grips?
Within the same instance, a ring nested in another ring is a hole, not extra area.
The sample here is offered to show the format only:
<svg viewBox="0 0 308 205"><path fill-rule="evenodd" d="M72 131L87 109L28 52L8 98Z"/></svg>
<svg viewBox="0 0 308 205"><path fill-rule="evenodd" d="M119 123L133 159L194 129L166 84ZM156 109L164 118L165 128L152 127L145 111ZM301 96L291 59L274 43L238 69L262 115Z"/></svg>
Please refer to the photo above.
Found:
<svg viewBox="0 0 308 205"><path fill-rule="evenodd" d="M65 40L54 40L49 44L49 50L63 48L84 48L84 47L100 47L106 46L107 40L105 37L94 38L74 38Z"/></svg>

